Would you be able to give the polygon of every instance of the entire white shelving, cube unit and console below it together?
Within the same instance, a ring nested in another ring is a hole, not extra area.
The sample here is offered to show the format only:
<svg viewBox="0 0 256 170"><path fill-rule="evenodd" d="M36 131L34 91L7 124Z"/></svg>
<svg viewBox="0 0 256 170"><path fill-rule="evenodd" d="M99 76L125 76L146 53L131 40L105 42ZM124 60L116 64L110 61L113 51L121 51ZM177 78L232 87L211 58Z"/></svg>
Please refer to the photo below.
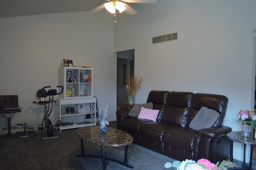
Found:
<svg viewBox="0 0 256 170"><path fill-rule="evenodd" d="M93 68L60 67L59 85L63 86L64 89L63 93L59 95L59 99L56 99L57 116L62 123L57 128L61 131L70 128L96 126L97 100L93 96ZM78 111L80 105L86 107L86 110ZM66 111L66 109L68 110Z"/></svg>

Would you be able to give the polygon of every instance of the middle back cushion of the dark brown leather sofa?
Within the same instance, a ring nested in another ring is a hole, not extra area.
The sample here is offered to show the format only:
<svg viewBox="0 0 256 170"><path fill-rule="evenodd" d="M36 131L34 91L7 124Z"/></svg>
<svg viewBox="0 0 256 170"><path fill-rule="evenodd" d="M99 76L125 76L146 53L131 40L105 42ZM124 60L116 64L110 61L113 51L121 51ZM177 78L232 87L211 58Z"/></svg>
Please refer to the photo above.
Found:
<svg viewBox="0 0 256 170"><path fill-rule="evenodd" d="M193 97L191 92L170 92L161 121L185 127Z"/></svg>

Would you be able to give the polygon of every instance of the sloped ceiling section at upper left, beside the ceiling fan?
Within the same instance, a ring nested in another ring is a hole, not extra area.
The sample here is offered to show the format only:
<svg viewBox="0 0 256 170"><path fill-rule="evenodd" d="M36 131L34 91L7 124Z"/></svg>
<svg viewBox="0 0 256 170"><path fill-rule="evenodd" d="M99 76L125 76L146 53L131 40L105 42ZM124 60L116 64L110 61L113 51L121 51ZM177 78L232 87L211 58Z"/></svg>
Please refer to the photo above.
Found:
<svg viewBox="0 0 256 170"><path fill-rule="evenodd" d="M0 18L88 11L104 0L0 0Z"/></svg>

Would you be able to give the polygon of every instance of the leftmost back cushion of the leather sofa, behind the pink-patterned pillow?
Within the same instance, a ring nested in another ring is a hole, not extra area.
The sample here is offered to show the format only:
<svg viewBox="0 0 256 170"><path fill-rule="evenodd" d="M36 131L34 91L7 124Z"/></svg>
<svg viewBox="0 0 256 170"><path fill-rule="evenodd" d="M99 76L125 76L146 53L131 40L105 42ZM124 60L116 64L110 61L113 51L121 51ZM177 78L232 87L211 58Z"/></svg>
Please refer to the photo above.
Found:
<svg viewBox="0 0 256 170"><path fill-rule="evenodd" d="M162 119L162 113L163 113L168 95L169 95L169 91L157 91L157 90L150 91L150 93L148 94L147 103L152 102L153 109L159 110L159 113L156 119L157 122L160 122Z"/></svg>

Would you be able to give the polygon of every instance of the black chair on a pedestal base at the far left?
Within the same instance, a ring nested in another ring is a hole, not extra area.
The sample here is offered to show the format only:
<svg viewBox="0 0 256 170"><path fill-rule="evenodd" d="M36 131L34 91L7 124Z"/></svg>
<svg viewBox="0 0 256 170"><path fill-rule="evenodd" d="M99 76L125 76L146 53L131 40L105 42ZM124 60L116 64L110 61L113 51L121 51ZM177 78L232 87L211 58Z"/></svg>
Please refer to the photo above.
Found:
<svg viewBox="0 0 256 170"><path fill-rule="evenodd" d="M8 130L8 133L2 136L3 138L16 137L16 135L11 133L11 130L17 128L11 127L11 115L18 112L21 112L18 104L18 95L0 96L0 114L3 114L2 117L8 117L8 127L3 128L3 130Z"/></svg>

